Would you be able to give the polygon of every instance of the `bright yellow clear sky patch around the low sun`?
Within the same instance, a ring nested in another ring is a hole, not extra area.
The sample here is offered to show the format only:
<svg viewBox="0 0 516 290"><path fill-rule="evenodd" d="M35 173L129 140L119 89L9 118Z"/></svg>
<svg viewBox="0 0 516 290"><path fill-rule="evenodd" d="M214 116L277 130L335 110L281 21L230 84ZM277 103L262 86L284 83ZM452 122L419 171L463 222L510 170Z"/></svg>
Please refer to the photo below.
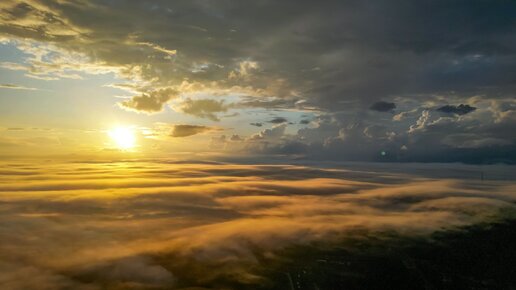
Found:
<svg viewBox="0 0 516 290"><path fill-rule="evenodd" d="M31 55L18 48L19 44L19 40L4 40L0 44L0 61L3 64L27 63ZM12 70L4 66L0 67L0 74L5 83L0 87L0 125L4 128L3 135L13 143L12 146L0 144L0 152L22 153L19 151L20 147L15 146L18 141L28 146L33 145L31 142L34 145L38 143L40 153L43 154L63 150L92 153L105 148L144 152L152 151L156 148L156 143L169 146L167 148L170 150L209 150L207 145L211 136L192 134L188 136L190 140L185 146L182 141L167 138L170 132L163 126L193 123L196 126L210 127L214 123L212 120L190 116L170 108L162 114L138 114L124 110L117 103L127 93L111 86L123 82L115 73L89 74L79 70L73 74L80 77L47 80L28 77L23 70ZM6 84L23 85L11 87ZM238 97L227 96L226 99L236 100ZM253 134L255 127L242 126L242 122L252 123L256 120L254 116L269 118L269 115L274 115L260 109L243 108L232 111L227 114L234 116L216 122L219 127L229 128L226 132L218 128L213 130L218 135L221 132L229 135L239 132ZM283 115L298 117L300 114L302 113L286 111ZM234 118L237 116L238 118Z"/></svg>

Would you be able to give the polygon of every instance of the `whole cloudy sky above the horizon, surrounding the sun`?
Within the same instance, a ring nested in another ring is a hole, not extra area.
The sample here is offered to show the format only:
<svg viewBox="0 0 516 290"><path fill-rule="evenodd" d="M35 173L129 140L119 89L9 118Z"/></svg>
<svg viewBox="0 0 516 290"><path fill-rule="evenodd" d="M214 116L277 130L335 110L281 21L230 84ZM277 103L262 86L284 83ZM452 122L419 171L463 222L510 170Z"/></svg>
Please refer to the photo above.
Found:
<svg viewBox="0 0 516 290"><path fill-rule="evenodd" d="M5 0L0 154L514 163L515 14L480 0Z"/></svg>

